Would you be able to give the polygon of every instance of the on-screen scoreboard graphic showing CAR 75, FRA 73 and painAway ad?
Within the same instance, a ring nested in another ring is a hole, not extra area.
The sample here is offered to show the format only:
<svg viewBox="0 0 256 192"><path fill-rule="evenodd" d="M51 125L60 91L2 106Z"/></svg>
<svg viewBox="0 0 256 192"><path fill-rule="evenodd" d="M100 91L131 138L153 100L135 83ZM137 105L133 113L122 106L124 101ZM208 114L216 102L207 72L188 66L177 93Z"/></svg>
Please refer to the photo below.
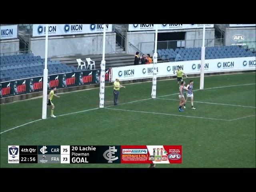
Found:
<svg viewBox="0 0 256 192"><path fill-rule="evenodd" d="M8 163L181 164L181 145L8 146Z"/></svg>

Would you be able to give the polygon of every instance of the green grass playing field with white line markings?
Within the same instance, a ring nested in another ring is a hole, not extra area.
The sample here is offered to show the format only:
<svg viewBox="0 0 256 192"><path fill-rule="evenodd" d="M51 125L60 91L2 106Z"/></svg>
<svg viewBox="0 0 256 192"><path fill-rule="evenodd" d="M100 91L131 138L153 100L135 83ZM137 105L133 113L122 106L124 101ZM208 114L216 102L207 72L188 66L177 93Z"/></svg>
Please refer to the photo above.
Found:
<svg viewBox="0 0 256 192"><path fill-rule="evenodd" d="M190 79L194 80L194 90L199 89L200 79L186 78L186 83ZM196 110L191 110L187 102L185 112L178 112L176 80L158 81L157 99L150 99L151 82L128 84L120 91L118 106L112 106L113 88L106 87L102 109L98 108L99 88L60 94L60 98L53 100L57 118L46 120L38 120L42 116L42 98L2 104L0 166L148 167L148 164L8 164L8 145L182 145L182 164L156 164L156 168L255 168L255 82L255 73L206 76L205 89L194 91ZM89 110L94 108L98 109ZM20 127L4 132L16 126Z"/></svg>

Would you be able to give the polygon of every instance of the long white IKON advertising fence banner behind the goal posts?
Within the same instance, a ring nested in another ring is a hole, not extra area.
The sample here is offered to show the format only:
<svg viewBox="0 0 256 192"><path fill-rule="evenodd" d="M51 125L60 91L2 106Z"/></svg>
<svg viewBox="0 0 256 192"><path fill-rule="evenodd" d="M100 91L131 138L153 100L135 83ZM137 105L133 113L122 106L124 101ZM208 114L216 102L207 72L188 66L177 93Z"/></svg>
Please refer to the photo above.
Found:
<svg viewBox="0 0 256 192"><path fill-rule="evenodd" d="M163 62L157 64L157 76L176 76L177 66L186 74L200 74L201 60ZM256 70L255 57L222 58L205 60L204 73ZM116 77L120 81L152 77L153 64L132 65L112 68L112 81Z"/></svg>

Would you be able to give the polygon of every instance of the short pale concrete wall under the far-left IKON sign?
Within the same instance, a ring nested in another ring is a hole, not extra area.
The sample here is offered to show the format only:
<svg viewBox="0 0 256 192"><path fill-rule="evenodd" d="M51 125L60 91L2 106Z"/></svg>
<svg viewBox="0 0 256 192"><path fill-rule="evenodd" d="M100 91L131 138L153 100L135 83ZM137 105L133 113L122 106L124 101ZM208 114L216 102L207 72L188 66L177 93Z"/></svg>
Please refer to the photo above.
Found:
<svg viewBox="0 0 256 192"><path fill-rule="evenodd" d="M13 52L18 52L19 49L20 49L19 39L8 39L8 40L0 41L1 56L3 56L3 53L10 53L10 54L4 54L5 56L13 55L14 54Z"/></svg>

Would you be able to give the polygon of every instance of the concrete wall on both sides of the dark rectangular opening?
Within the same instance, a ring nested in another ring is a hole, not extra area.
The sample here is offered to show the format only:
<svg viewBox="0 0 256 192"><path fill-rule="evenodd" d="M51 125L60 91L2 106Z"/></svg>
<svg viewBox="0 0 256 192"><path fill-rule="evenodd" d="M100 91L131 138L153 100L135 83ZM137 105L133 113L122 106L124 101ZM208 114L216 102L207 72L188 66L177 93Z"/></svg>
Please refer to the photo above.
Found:
<svg viewBox="0 0 256 192"><path fill-rule="evenodd" d="M198 39L203 38L203 29L182 29L182 30L158 30L158 33L170 33L170 32L186 32L185 34L185 48L190 47L201 47L202 41ZM214 28L207 28L205 32L206 39L214 39ZM198 40L195 41L194 40ZM147 42L143 44L143 53L152 54L154 50L154 41L155 41L155 31L136 31L136 32L127 32L126 34L126 53L135 54L138 51L136 48L140 49L139 43ZM134 46L130 45L133 44ZM206 41L207 42L207 41ZM208 46L214 46L214 40L208 42Z"/></svg>

